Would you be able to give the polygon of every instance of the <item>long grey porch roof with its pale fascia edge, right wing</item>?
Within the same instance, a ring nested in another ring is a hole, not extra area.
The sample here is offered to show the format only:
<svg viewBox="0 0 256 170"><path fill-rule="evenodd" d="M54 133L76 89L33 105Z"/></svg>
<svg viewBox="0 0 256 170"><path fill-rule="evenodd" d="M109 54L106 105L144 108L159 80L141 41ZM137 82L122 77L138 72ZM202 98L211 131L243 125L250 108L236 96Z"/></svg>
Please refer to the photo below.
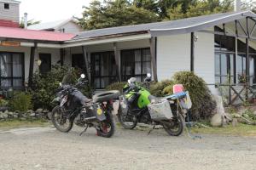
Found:
<svg viewBox="0 0 256 170"><path fill-rule="evenodd" d="M210 14L199 17L192 17L183 20L172 20L165 22L155 22L134 26L118 26L112 28L97 29L92 31L83 31L78 36L73 37L72 42L86 40L90 38L109 37L113 35L127 35L143 32L150 32L152 37L164 36L166 34L189 33L200 31L208 27L219 24L241 20L246 17L256 18L256 14L251 11L230 12L223 14Z"/></svg>

